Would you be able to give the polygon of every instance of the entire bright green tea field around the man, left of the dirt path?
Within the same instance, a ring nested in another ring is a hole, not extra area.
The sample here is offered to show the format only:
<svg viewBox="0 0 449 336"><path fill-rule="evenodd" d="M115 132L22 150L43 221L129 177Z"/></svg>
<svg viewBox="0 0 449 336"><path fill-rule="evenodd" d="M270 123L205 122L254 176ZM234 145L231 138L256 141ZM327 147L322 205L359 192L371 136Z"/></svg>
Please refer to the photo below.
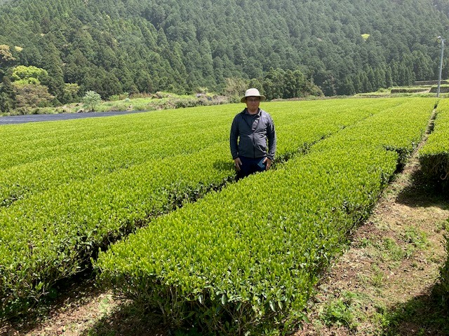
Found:
<svg viewBox="0 0 449 336"><path fill-rule="evenodd" d="M434 104L262 103L276 124L276 167L239 183L229 127L243 104L1 126L1 316L38 302L56 281L90 267L98 248L147 226L102 253L102 281L150 304L159 293L182 321L210 309L243 312L244 330L298 318L290 311L304 307L346 232L420 141ZM182 287L175 301L161 294L174 283ZM192 304L198 311L183 315ZM208 327L234 332L220 314Z"/></svg>

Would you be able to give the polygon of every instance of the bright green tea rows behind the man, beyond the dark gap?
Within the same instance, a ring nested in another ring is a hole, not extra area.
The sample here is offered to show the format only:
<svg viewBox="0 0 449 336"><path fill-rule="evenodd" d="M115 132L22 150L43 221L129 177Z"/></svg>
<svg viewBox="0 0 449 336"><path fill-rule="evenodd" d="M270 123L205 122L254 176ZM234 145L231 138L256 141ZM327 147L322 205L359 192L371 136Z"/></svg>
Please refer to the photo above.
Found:
<svg viewBox="0 0 449 336"><path fill-rule="evenodd" d="M265 104L289 158L404 102ZM89 267L98 247L234 179L229 127L241 108L1 127L0 318Z"/></svg>

